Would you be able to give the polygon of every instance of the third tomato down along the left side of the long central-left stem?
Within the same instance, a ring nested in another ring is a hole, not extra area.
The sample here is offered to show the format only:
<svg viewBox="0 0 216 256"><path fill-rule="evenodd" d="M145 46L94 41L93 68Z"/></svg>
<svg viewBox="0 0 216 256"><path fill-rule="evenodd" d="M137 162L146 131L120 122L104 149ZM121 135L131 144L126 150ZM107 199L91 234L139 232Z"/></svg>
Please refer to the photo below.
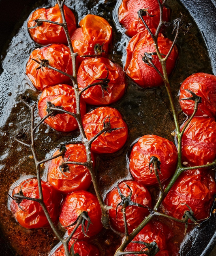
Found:
<svg viewBox="0 0 216 256"><path fill-rule="evenodd" d="M55 106L62 106L66 111L76 113L76 100L74 88L70 85L56 85L46 88L38 101L38 112L41 118L47 115L47 102L51 102ZM86 103L80 101L81 116L86 113ZM71 132L78 128L76 119L67 114L57 114L45 120L50 127L59 132Z"/></svg>

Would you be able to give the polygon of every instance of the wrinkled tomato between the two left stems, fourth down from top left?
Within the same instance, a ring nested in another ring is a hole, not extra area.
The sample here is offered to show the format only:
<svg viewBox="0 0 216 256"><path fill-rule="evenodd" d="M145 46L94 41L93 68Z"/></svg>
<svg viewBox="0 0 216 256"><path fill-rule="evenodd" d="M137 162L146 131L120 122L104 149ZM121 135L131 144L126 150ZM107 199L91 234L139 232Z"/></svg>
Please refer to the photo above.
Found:
<svg viewBox="0 0 216 256"><path fill-rule="evenodd" d="M69 144L66 145L65 159L73 162L86 162L86 148L82 144ZM60 153L57 150L53 156ZM94 165L94 156L92 155L92 161ZM70 193L75 190L87 190L91 183L91 175L88 168L83 165L71 165L69 171L64 174L60 171L60 165L64 162L62 156L59 156L51 161L48 169L48 181L52 187L60 191L61 193Z"/></svg>

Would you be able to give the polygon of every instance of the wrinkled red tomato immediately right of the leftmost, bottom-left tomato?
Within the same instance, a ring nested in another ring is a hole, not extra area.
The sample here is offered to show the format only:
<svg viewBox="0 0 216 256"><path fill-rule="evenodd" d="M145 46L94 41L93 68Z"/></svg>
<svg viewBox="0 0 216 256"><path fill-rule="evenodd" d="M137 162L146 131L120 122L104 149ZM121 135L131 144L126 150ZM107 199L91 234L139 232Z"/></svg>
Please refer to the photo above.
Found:
<svg viewBox="0 0 216 256"><path fill-rule="evenodd" d="M97 197L92 193L80 190L68 194L62 203L59 221L63 227L66 227L70 234L73 231L74 226L68 226L74 223L83 211L88 212L88 217L90 217L91 221L87 236L83 234L80 225L73 237L88 239L89 237L98 234L103 228L101 224L101 207ZM85 221L86 226L87 223L88 221ZM84 227L84 231L86 232L86 227Z"/></svg>

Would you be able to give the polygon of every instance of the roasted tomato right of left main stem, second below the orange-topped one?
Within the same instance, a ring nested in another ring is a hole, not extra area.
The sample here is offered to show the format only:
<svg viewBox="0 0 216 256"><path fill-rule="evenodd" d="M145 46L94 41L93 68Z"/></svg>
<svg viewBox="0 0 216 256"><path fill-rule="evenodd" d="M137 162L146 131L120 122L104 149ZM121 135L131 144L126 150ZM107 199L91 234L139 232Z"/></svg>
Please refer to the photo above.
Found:
<svg viewBox="0 0 216 256"><path fill-rule="evenodd" d="M119 111L115 108L96 108L84 115L82 119L83 128L88 140L103 130L104 122L109 122L109 119L111 128L123 128L103 133L92 143L92 151L98 154L114 153L120 150L127 140L128 127Z"/></svg>

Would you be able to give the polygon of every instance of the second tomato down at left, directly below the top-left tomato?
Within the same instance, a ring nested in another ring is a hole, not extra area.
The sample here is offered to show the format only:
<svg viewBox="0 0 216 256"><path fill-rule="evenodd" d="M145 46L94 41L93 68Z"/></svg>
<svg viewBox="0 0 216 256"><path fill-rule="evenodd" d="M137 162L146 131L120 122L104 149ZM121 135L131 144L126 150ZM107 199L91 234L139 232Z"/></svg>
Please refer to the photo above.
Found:
<svg viewBox="0 0 216 256"><path fill-rule="evenodd" d="M63 44L52 44L41 49L37 48L32 52L30 58L37 61L46 59L52 67L72 75L71 53L69 48ZM68 76L64 76L48 67L43 67L43 70L37 69L40 65L31 59L26 65L26 75L36 89L43 91L45 87L71 81Z"/></svg>

